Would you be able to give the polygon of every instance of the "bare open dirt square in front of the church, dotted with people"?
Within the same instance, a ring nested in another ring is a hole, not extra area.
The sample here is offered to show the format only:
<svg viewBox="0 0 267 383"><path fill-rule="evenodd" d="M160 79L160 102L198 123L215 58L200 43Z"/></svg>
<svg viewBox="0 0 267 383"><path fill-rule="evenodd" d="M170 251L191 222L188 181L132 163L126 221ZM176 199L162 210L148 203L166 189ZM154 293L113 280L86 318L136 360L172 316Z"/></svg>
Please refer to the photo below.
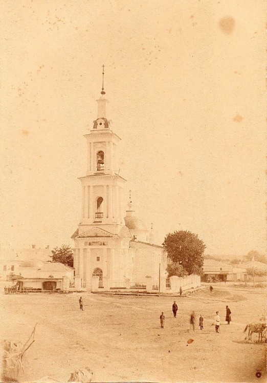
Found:
<svg viewBox="0 0 267 383"><path fill-rule="evenodd" d="M93 381L266 381L266 348L245 340L247 323L257 321L265 290L214 286L190 297L82 294L2 295L3 339L25 342L37 322L35 343L24 360L20 381L43 376L68 381L71 371L90 367ZM225 307L232 311L228 326ZM189 315L196 313L196 329ZM221 318L215 333L216 310ZM165 327L160 328L160 314ZM204 317L204 329L198 317ZM258 335L253 334L253 340ZM188 344L187 341L193 339ZM260 371L261 377L256 377Z"/></svg>

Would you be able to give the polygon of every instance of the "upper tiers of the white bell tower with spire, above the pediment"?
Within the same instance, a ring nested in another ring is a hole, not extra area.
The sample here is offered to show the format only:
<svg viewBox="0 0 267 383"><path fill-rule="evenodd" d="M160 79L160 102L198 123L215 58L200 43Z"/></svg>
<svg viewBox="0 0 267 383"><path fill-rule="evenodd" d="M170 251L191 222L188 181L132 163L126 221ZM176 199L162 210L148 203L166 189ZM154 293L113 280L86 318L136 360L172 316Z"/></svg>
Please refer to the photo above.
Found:
<svg viewBox="0 0 267 383"><path fill-rule="evenodd" d="M90 226L105 226L114 234L118 226L124 226L124 183L118 175L117 147L120 137L112 131L106 117L108 100L104 91L104 65L101 96L97 100L98 114L87 141L87 170L80 178L82 185L82 214L79 233Z"/></svg>

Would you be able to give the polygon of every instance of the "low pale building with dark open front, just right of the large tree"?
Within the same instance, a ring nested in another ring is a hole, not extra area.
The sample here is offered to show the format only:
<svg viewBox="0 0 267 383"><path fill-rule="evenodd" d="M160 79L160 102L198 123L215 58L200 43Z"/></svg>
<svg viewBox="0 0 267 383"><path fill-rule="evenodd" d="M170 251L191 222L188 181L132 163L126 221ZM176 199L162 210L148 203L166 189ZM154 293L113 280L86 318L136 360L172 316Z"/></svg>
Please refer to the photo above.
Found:
<svg viewBox="0 0 267 383"><path fill-rule="evenodd" d="M203 273L203 282L232 280L232 266L215 259L204 259Z"/></svg>

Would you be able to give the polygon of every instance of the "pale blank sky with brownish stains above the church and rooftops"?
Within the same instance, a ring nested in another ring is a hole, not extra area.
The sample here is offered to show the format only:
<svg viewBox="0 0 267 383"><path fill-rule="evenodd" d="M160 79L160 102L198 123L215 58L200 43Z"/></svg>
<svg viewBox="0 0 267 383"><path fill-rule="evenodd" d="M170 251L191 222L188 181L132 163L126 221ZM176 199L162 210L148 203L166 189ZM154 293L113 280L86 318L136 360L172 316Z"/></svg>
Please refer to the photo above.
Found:
<svg viewBox="0 0 267 383"><path fill-rule="evenodd" d="M265 252L265 1L1 5L2 248L70 244L105 65L120 175L155 243Z"/></svg>

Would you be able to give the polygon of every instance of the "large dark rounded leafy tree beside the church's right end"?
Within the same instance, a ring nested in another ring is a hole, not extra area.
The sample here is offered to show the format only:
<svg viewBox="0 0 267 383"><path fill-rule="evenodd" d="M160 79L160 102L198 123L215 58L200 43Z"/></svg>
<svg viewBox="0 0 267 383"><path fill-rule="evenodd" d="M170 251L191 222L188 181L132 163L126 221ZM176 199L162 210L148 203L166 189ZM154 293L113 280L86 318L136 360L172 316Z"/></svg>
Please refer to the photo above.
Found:
<svg viewBox="0 0 267 383"><path fill-rule="evenodd" d="M165 236L163 246L173 263L182 265L188 274L202 275L206 245L197 234L187 230L174 231Z"/></svg>

